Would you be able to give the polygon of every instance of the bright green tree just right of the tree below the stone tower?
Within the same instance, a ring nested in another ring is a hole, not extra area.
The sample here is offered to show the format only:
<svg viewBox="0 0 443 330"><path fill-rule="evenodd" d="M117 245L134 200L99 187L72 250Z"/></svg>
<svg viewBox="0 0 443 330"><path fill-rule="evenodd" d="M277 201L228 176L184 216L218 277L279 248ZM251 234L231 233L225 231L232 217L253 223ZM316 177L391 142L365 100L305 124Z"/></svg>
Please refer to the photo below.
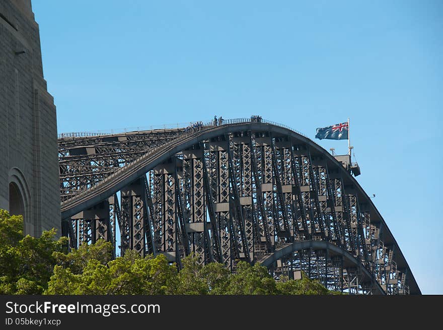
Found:
<svg viewBox="0 0 443 330"><path fill-rule="evenodd" d="M140 257L135 251L111 260L111 244L83 244L67 255L57 254L46 294L168 294L177 271L163 254Z"/></svg>

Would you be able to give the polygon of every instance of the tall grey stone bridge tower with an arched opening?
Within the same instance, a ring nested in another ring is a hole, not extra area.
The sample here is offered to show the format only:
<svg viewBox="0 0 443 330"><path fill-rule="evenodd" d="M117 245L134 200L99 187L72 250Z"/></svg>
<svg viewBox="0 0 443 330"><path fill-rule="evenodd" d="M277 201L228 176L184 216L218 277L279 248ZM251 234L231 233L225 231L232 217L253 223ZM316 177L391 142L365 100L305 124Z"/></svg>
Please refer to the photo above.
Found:
<svg viewBox="0 0 443 330"><path fill-rule="evenodd" d="M0 208L60 234L57 123L31 0L0 0Z"/></svg>

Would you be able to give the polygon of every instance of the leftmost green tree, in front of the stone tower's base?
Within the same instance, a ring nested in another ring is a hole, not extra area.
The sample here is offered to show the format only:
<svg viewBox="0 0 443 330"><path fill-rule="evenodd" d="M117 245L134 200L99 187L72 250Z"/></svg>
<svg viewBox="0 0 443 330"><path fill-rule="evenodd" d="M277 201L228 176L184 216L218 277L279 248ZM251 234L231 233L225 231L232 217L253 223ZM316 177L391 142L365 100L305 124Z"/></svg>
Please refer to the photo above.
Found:
<svg viewBox="0 0 443 330"><path fill-rule="evenodd" d="M23 217L0 210L0 294L41 294L52 275L56 258L65 253L67 239L55 240L56 230L41 237L23 235Z"/></svg>

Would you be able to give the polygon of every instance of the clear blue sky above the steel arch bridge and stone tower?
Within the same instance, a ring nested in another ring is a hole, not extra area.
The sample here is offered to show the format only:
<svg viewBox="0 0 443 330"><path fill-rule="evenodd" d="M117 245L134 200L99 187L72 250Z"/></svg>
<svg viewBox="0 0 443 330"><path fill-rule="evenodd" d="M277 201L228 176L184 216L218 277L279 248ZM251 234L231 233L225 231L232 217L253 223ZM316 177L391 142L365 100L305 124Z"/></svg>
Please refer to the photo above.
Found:
<svg viewBox="0 0 443 330"><path fill-rule="evenodd" d="M350 117L357 180L443 294L443 2L214 3L33 0L59 133L254 113L314 140Z"/></svg>

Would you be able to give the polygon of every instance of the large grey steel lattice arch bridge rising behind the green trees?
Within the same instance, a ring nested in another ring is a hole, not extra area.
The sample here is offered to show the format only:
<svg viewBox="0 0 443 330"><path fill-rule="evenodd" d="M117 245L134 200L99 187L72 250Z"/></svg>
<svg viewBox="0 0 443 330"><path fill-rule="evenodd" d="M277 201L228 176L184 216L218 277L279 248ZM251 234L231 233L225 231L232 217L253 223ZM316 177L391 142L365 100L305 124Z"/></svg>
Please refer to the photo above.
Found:
<svg viewBox="0 0 443 330"><path fill-rule="evenodd" d="M421 294L391 231L332 156L274 122L59 136L62 234L176 262L259 261L351 294Z"/></svg>

